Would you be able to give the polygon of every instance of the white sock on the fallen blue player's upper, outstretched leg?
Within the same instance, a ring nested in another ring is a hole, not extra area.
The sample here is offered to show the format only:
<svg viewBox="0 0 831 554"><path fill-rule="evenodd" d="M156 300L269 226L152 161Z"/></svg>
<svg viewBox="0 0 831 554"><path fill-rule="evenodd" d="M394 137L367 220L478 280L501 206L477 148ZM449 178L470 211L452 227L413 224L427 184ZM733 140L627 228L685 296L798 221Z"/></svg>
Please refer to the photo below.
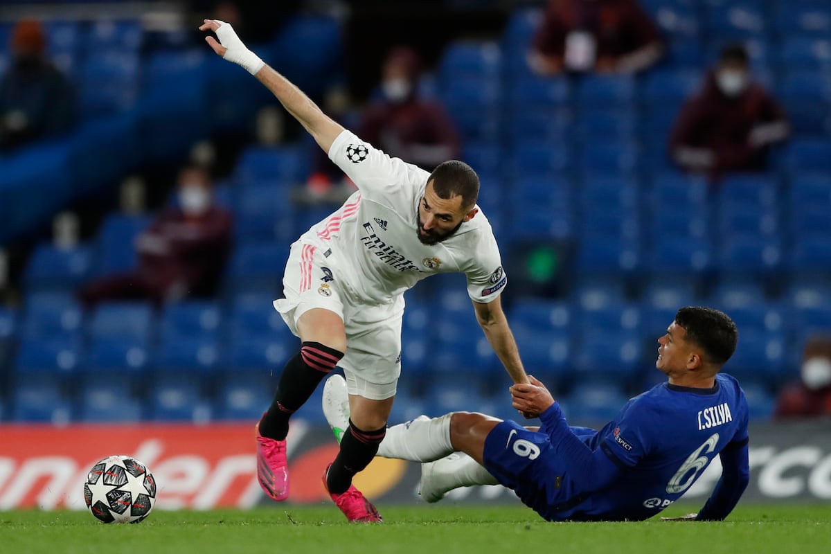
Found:
<svg viewBox="0 0 831 554"><path fill-rule="evenodd" d="M386 429L386 436L378 448L384 458L399 458L411 462L432 462L453 452L450 444L450 416L428 419L419 417L405 424Z"/></svg>

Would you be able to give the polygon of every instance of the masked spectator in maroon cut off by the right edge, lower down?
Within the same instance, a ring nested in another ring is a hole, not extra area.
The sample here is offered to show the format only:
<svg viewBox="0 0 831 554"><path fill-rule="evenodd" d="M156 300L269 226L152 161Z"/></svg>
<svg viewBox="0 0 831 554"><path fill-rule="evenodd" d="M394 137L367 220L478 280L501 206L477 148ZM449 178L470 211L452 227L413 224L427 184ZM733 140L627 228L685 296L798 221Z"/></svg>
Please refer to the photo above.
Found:
<svg viewBox="0 0 831 554"><path fill-rule="evenodd" d="M800 380L779 393L774 418L831 415L831 335L811 336L802 352Z"/></svg>

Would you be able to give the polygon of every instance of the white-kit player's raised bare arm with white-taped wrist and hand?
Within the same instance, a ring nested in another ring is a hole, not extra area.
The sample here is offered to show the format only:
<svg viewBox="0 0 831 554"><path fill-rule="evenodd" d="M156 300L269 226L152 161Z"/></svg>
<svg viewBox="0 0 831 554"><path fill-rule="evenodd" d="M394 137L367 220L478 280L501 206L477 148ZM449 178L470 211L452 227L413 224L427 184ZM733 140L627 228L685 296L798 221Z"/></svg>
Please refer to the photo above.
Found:
<svg viewBox="0 0 831 554"><path fill-rule="evenodd" d="M340 124L324 114L317 104L312 102L291 81L274 71L253 51L248 50L248 47L237 37L234 27L216 19L205 19L199 30L215 32L219 42L214 37L205 37L205 42L208 42L214 52L225 60L233 61L242 66L246 71L257 77L258 81L272 92L288 113L300 122L300 125L312 135L317 144L328 154L337 135L340 135L343 131Z"/></svg>

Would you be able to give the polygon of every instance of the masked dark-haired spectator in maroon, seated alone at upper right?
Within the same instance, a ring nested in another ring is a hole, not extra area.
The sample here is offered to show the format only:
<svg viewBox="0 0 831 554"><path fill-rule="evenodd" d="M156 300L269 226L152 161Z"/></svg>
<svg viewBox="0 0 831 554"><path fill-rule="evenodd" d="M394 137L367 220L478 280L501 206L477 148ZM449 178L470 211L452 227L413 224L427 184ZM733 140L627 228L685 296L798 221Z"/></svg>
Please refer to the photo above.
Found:
<svg viewBox="0 0 831 554"><path fill-rule="evenodd" d="M729 171L765 169L768 145L788 133L782 108L752 80L745 47L730 45L701 90L681 108L670 153L681 168L717 178Z"/></svg>

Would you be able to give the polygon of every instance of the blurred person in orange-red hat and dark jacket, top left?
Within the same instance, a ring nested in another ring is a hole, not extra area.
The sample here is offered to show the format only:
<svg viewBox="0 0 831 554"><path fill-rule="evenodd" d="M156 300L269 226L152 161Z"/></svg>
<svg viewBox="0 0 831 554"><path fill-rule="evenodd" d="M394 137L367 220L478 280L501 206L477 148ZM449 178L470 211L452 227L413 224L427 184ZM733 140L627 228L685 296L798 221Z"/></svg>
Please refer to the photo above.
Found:
<svg viewBox="0 0 831 554"><path fill-rule="evenodd" d="M76 117L75 89L47 59L39 22L18 22L9 51L11 63L0 78L0 150L58 135Z"/></svg>

